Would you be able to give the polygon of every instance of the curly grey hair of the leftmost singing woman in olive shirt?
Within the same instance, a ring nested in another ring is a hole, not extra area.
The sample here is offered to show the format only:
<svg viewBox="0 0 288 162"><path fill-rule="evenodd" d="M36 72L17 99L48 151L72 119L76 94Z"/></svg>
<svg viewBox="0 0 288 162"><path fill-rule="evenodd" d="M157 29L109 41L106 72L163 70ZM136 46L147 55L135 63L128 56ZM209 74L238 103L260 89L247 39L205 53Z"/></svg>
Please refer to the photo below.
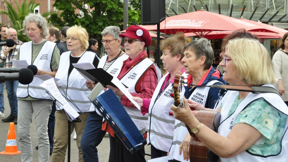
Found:
<svg viewBox="0 0 288 162"><path fill-rule="evenodd" d="M39 27L39 28L42 28L43 30L43 33L42 33L42 37L44 38L46 35L47 35L47 30L48 30L48 25L47 25L47 20L46 18L42 17L40 15L40 13L29 13L24 21L23 21L23 28L24 28L24 32L23 34L24 35L27 35L27 32L26 32L26 25L27 23L36 23L36 25Z"/></svg>

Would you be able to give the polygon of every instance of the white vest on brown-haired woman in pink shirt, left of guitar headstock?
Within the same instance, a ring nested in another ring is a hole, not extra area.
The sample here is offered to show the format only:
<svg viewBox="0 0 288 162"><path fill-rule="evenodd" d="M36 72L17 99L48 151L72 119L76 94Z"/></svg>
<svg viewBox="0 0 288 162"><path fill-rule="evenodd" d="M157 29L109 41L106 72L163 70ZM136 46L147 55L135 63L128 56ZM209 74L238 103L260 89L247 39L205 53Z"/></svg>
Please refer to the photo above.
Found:
<svg viewBox="0 0 288 162"><path fill-rule="evenodd" d="M174 98L170 96L170 93L173 93L173 84L169 83L164 92L158 97L167 75L169 73L161 78L154 91L149 105L147 125L147 143L151 143L156 149L165 152L168 152L171 147L175 124L174 116L169 115L170 107L174 103ZM187 76L188 74L184 73L182 75ZM184 94L185 88L183 85L181 87L181 94Z"/></svg>

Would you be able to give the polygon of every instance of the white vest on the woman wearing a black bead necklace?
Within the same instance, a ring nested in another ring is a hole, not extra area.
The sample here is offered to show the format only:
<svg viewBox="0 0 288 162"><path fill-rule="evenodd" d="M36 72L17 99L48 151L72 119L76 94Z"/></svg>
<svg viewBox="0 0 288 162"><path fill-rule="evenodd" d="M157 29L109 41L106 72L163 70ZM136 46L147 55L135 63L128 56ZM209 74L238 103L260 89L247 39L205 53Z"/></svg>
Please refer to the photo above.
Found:
<svg viewBox="0 0 288 162"><path fill-rule="evenodd" d="M106 60L107 60L107 57L108 57L108 55L101 57L97 68L103 68L104 67ZM122 54L111 64L111 66L106 70L106 72L109 73L110 75L114 76L114 77L117 77L120 73L121 68L122 68L123 61L125 61L127 59L128 59L128 55L126 55L125 53ZM95 106L93 104L91 105L89 111L90 112L96 111L96 113L98 115L102 116L101 113L95 108Z"/></svg>

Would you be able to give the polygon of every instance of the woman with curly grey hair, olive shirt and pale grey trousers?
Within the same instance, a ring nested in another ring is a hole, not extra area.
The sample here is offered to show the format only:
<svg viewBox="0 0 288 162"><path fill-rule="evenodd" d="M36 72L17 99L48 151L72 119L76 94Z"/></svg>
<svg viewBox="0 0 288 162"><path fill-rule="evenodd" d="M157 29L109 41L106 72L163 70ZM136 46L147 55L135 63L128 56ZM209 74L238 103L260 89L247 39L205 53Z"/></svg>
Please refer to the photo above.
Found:
<svg viewBox="0 0 288 162"><path fill-rule="evenodd" d="M26 60L28 65L37 66L37 75L55 77L59 65L59 49L54 42L47 41L47 20L39 13L28 14L23 21L23 32L31 39L20 46L17 60ZM18 134L22 161L32 161L32 144L30 127L32 116L35 116L35 125L38 139L39 161L49 161L48 119L51 113L52 99L40 84L43 80L34 77L29 85L19 83L18 99Z"/></svg>

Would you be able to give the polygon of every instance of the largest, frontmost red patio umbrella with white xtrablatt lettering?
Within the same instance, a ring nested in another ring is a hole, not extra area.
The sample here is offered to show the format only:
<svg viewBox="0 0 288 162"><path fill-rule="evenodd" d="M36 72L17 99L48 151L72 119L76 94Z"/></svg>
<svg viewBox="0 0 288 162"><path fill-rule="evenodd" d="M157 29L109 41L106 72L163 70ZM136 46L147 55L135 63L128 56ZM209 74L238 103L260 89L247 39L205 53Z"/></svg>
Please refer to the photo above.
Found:
<svg viewBox="0 0 288 162"><path fill-rule="evenodd" d="M157 31L157 25L140 25L147 30ZM199 36L206 35L212 31L233 31L244 28L246 31L274 32L263 26L239 22L239 19L232 18L218 13L208 11L195 11L167 17L160 23L160 32L175 34L178 31L184 33L194 32Z"/></svg>

